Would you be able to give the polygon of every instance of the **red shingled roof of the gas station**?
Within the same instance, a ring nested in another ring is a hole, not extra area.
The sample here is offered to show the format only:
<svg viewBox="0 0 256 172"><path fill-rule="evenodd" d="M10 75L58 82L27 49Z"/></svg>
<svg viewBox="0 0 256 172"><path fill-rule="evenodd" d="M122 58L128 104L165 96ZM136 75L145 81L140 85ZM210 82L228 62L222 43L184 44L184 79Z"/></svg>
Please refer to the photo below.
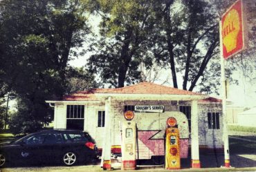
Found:
<svg viewBox="0 0 256 172"><path fill-rule="evenodd" d="M66 95L63 100L67 101L88 101L98 100L95 93L109 93L109 94L154 94L154 95L202 95L188 90L181 90L169 86L161 86L150 82L141 82L132 86L125 86L122 88L95 88L85 91Z"/></svg>

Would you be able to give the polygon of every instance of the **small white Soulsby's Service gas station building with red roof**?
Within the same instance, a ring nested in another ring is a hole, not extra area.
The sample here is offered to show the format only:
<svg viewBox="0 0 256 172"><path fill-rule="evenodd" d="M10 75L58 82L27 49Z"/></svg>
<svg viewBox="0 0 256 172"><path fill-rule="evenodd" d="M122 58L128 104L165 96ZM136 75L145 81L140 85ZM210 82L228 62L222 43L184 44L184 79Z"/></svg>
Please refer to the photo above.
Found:
<svg viewBox="0 0 256 172"><path fill-rule="evenodd" d="M112 154L122 152L124 161L125 151L132 157L127 157L131 166L136 166L138 159L164 156L170 117L176 120L179 130L179 156L188 158L191 147L192 168L201 167L199 148L223 149L221 100L201 93L141 82L123 88L80 91L46 102L55 108L54 128L90 133L102 150L104 169L111 168ZM130 121L124 117L127 111L134 115ZM136 124L136 135L125 128L129 124ZM130 134L131 140L126 140Z"/></svg>

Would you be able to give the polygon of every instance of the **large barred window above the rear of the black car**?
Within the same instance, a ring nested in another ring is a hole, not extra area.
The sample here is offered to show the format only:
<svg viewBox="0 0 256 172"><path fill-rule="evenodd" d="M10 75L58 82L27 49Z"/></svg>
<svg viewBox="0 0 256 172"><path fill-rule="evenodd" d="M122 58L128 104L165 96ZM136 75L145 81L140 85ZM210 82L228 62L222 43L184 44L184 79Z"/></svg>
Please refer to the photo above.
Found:
<svg viewBox="0 0 256 172"><path fill-rule="evenodd" d="M84 105L66 106L66 129L84 130Z"/></svg>

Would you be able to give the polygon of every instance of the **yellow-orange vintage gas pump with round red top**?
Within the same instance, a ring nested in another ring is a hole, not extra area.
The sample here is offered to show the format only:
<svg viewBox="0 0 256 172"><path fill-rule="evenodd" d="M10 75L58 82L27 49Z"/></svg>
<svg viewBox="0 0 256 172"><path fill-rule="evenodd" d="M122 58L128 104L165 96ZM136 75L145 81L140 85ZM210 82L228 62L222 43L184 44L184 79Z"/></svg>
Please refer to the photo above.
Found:
<svg viewBox="0 0 256 172"><path fill-rule="evenodd" d="M174 117L167 119L165 130L165 169L181 169L179 129Z"/></svg>

